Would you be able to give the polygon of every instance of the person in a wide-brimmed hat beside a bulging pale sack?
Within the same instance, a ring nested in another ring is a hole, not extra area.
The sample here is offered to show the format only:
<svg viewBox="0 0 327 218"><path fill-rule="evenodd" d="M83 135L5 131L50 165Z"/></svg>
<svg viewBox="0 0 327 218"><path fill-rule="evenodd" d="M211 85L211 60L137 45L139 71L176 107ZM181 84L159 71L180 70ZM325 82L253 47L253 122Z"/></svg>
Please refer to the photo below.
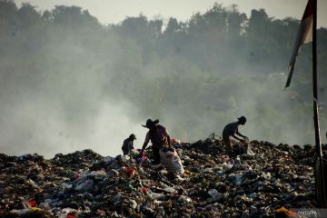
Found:
<svg viewBox="0 0 327 218"><path fill-rule="evenodd" d="M141 154L144 153L144 150L147 144L150 142L153 144L153 154L154 154L154 164L160 163L160 154L159 150L163 147L171 147L170 146L170 136L163 125L159 124L159 120L152 120L147 119L146 124L142 125L145 128L148 128L149 131L147 132L144 140L144 145L141 150Z"/></svg>

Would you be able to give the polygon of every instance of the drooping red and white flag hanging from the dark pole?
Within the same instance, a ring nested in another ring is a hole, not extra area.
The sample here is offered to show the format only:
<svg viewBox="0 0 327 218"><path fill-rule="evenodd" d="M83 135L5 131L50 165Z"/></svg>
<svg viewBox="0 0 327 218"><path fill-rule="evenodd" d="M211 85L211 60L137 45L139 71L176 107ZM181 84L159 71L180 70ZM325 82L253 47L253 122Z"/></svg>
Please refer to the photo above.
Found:
<svg viewBox="0 0 327 218"><path fill-rule="evenodd" d="M313 26L313 1L309 0L305 7L304 14L302 16L302 21L299 29L299 33L296 37L294 49L292 52L291 62L288 67L288 77L286 82L286 87L290 86L292 80L292 72L294 69L294 64L297 54L299 54L300 46L302 44L307 44L312 42L312 26Z"/></svg>

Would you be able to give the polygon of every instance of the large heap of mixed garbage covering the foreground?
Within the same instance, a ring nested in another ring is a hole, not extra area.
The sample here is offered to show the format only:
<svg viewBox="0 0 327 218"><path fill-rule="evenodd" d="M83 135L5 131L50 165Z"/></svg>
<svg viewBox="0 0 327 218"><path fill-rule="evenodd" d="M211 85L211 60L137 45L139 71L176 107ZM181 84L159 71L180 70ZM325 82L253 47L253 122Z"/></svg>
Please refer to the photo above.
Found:
<svg viewBox="0 0 327 218"><path fill-rule="evenodd" d="M151 149L0 154L0 217L275 217L315 206L314 147L249 145L231 158L221 139L174 144L182 173L152 164Z"/></svg>

